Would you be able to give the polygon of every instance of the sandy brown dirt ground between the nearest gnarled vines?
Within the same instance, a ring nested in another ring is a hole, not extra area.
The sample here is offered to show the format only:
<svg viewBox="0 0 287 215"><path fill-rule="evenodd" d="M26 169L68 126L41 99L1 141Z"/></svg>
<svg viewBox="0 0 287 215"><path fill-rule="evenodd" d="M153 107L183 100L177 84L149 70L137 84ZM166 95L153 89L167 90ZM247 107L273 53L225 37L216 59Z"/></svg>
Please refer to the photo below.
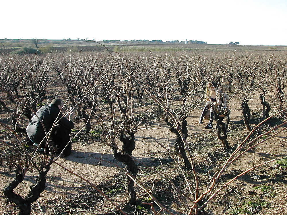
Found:
<svg viewBox="0 0 287 215"><path fill-rule="evenodd" d="M252 119L258 118L258 113L261 112L262 107L259 104L259 99L254 99L249 103ZM220 144L216 139L216 134L212 130L204 129L208 120L204 120L203 124L198 123L200 113L201 110L196 109L187 118L189 130L187 141L189 142L189 149L198 170L203 169L206 165L211 166L211 168L213 167L212 158L209 155L212 155L215 159L217 156L219 158L218 163L225 159L222 155L223 152ZM7 117L7 113L5 112L1 112L1 115ZM3 117L1 118L3 119ZM256 120L253 121L252 126L256 124ZM81 122L76 117L75 129L77 130L80 127ZM75 131L73 131L73 134L75 134ZM247 134L248 132L242 121L240 103L233 101L231 104L228 141L232 147L236 147L237 142L243 140ZM173 151L175 136L170 132L169 127L165 123L160 120L154 121L147 128L139 130L135 135L136 148L132 155L139 167L137 177L143 183L147 186L149 183L154 183L154 187L156 187L156 185L160 184L160 177L150 173L142 163L161 171L164 168L166 173L171 175L170 177L178 174L177 166L170 159L166 150L157 143L160 142L166 148L170 148ZM286 138L287 131L284 130L276 135L276 137L267 140L246 153L230 166L229 172L226 172L226 178L232 177L235 173L246 170L253 165L274 158L286 158ZM110 161L110 163L104 161ZM111 148L101 138L90 135L85 139L73 142L71 155L65 158L60 157L56 162L75 174L71 174L66 169L53 163L46 175L46 188L41 193L38 201L33 203L31 214L113 214L117 211L103 196L86 181L77 177L76 174L101 189L116 204L127 211L127 214L129 214L129 211L134 211L131 208L135 206L128 206L125 203L126 193L123 187L125 175L117 167L124 166L113 157ZM15 189L15 192L25 196L27 188L35 182L36 173L32 169L29 170L24 181ZM3 166L0 167L0 174L0 189L3 190L11 182L14 173L13 171L8 172L5 166ZM199 177L204 178L206 176L202 174ZM236 214L239 213L238 208L247 208L250 214L287 214L286 180L286 169L276 166L275 162L263 165L230 183L226 189L222 190L214 198L205 212L207 214ZM262 184L270 187L270 189L268 188L266 192L262 191L262 189L254 189L254 187L259 187ZM135 187L139 201L148 201L146 194L143 194L143 191L137 185ZM169 193L166 189L161 189L158 186L157 191L158 199L162 197L166 205L169 204L171 207L176 208L176 206L172 205L174 203L170 203L172 201L168 201ZM268 202L265 206L261 206L260 210L258 207L257 210L255 207L248 206L248 201L252 200L254 202L256 196ZM14 204L5 201L3 193L0 194L0 197L0 214L18 214L18 210L15 209ZM146 211L145 207L137 208L137 214L148 214Z"/></svg>

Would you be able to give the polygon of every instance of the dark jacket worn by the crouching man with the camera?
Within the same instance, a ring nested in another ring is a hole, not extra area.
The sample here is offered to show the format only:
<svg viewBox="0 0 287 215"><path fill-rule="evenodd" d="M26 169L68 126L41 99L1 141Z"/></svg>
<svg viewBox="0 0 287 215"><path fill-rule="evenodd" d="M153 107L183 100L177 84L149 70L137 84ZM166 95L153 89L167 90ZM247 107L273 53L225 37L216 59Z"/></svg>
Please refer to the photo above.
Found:
<svg viewBox="0 0 287 215"><path fill-rule="evenodd" d="M67 120L63 116L63 114L60 113L60 111L61 110L53 104L44 105L37 111L36 114L40 118L40 120L42 120L46 128L46 132L49 132L49 130L52 128L53 123L58 117L58 115L59 117L57 119L60 119L58 124L63 126L63 128L67 129L69 133L71 132L71 129L74 128L73 122ZM37 116L34 115L29 121L28 127L26 128L26 132L32 142L39 144L45 137L45 131L42 123Z"/></svg>

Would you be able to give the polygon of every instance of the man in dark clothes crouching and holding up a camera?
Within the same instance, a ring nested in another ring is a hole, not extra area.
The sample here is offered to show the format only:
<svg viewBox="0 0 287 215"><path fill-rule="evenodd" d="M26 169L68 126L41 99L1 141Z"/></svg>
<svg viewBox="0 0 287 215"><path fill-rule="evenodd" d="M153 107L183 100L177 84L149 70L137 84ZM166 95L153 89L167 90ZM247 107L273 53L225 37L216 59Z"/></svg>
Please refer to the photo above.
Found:
<svg viewBox="0 0 287 215"><path fill-rule="evenodd" d="M38 148L40 152L44 151L47 135L43 125L46 129L46 132L49 132L53 126L53 123L56 121L57 124L54 126L51 132L51 138L57 148L56 153L61 153L69 143L63 151L63 155L69 156L71 154L72 144L70 141L70 133L71 129L74 128L74 123L72 120L75 116L75 112L72 111L67 114L67 116L63 116L61 113L63 106L64 103L61 99L53 99L49 105L42 106L36 112L37 116L34 115L29 121L26 132L30 140L33 142L33 148Z"/></svg>

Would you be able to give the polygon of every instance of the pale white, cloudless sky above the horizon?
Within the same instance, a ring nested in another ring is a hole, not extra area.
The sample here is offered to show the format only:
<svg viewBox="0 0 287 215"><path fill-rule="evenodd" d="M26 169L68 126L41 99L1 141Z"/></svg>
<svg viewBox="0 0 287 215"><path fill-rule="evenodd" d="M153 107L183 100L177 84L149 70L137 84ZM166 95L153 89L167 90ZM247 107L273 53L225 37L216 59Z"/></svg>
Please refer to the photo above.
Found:
<svg viewBox="0 0 287 215"><path fill-rule="evenodd" d="M14 0L0 7L0 39L287 45L287 0Z"/></svg>

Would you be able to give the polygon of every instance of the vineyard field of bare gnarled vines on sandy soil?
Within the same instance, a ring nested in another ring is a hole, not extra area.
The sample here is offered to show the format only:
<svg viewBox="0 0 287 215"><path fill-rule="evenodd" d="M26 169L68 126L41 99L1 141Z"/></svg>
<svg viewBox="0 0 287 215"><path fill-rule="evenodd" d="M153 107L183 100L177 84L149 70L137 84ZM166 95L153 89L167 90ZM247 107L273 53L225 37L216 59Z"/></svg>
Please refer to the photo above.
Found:
<svg viewBox="0 0 287 215"><path fill-rule="evenodd" d="M138 46L149 50L0 56L0 186L9 190L0 211L286 214L286 47ZM210 81L230 99L205 129ZM50 154L35 152L25 133L56 97L63 112L76 110L67 157L51 140ZM36 185L45 189L30 200Z"/></svg>

